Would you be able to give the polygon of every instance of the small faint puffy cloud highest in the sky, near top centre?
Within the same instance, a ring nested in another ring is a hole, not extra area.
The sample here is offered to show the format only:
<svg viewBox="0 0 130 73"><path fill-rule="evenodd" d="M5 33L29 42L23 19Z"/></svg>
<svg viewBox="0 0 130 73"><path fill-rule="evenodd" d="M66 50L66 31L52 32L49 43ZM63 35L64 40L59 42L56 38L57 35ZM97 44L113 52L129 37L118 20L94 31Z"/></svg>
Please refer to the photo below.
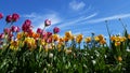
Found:
<svg viewBox="0 0 130 73"><path fill-rule="evenodd" d="M75 11L78 11L78 10L81 10L81 9L83 9L86 6L86 3L84 2L77 2L77 1L72 1L70 3L69 3L69 8L70 9L73 9L73 10L75 10Z"/></svg>

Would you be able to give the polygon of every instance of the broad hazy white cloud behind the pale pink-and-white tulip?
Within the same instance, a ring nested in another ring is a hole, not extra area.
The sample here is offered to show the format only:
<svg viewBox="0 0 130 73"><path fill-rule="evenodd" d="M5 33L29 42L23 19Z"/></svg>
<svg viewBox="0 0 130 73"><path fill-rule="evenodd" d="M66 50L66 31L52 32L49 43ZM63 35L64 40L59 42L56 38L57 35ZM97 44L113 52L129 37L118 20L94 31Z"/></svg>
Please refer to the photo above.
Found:
<svg viewBox="0 0 130 73"><path fill-rule="evenodd" d="M50 19L52 21L52 26L62 21L62 18L56 13L49 14L31 13L23 16L32 20L34 30L37 30L37 28L43 28L46 19Z"/></svg>

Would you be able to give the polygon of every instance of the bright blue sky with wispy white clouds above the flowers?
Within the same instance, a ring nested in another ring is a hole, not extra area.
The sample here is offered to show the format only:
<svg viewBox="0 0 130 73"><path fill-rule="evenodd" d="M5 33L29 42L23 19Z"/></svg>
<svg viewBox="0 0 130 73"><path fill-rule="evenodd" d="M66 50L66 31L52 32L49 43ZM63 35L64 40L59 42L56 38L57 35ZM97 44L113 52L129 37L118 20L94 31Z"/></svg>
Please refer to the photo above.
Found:
<svg viewBox="0 0 130 73"><path fill-rule="evenodd" d="M60 34L65 31L82 33L84 36L104 34L107 31L104 20L108 20L112 34L122 33L118 18L130 29L130 0L0 0L0 12L4 18L9 14L18 13L21 18L14 25L22 26L25 19L31 19L34 29L43 28L44 19L52 20L47 30L60 27ZM5 21L0 20L0 31ZM130 32L130 30L128 30Z"/></svg>

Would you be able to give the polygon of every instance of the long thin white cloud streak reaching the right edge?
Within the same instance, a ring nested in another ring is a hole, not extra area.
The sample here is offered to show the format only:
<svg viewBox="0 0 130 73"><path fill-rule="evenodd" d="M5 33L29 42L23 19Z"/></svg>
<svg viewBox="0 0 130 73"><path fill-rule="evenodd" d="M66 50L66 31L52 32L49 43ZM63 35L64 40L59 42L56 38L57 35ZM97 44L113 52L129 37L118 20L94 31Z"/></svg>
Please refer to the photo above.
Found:
<svg viewBox="0 0 130 73"><path fill-rule="evenodd" d="M86 23L95 24L95 23L101 23L101 21L105 21L105 20L113 20L113 19L127 18L127 17L130 17L130 13L129 14L118 14L118 15L113 15L113 16L108 16L108 17L91 19L91 20L88 20Z"/></svg>

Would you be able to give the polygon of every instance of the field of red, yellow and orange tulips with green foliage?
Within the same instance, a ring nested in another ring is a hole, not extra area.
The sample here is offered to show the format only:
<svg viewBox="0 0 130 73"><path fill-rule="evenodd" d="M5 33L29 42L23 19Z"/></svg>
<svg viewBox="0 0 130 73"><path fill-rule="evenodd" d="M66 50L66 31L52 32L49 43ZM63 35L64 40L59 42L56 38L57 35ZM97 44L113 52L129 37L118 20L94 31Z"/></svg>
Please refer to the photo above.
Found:
<svg viewBox="0 0 130 73"><path fill-rule="evenodd" d="M0 21L6 27L0 33L0 73L128 73L130 71L130 34L92 33L90 36L73 34L66 31L64 36L54 27L46 30L51 20L44 20L44 27L34 30L30 19L22 27L15 26L20 15L14 13L5 19L0 13ZM106 21L107 23L107 21Z"/></svg>

